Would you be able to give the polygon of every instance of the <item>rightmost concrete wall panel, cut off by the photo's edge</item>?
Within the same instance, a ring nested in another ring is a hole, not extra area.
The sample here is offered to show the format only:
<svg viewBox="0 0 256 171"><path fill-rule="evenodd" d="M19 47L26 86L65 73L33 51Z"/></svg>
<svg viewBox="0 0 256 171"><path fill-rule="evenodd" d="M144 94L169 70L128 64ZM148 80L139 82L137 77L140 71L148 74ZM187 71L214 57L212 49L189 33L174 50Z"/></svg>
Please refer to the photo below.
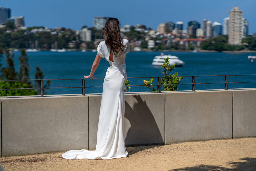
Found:
<svg viewBox="0 0 256 171"><path fill-rule="evenodd" d="M256 136L256 91L233 92L233 136Z"/></svg>

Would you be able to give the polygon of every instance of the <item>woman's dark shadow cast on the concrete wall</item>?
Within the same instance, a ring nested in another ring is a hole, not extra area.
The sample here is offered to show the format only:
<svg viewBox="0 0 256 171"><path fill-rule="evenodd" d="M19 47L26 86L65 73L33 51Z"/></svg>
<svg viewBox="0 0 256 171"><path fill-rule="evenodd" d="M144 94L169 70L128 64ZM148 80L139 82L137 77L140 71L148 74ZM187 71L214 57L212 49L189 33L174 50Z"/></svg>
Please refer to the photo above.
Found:
<svg viewBox="0 0 256 171"><path fill-rule="evenodd" d="M128 101L125 100L125 118L131 124L126 134L125 145L164 144L164 140L150 108L142 100L140 95L133 95L133 97L137 102L133 103L132 107L129 105L129 100L131 99L128 99ZM134 99L132 101L134 102ZM152 146L148 148L152 148Z"/></svg>

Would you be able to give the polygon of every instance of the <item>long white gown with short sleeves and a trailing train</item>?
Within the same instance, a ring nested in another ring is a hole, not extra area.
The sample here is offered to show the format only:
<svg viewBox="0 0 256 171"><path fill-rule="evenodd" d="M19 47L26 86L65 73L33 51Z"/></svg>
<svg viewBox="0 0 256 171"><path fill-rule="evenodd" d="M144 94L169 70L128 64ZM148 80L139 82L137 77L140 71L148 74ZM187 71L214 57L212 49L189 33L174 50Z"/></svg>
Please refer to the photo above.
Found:
<svg viewBox="0 0 256 171"><path fill-rule="evenodd" d="M124 86L126 81L126 53L130 51L130 43L126 39L121 42L123 52L113 54L109 60L110 49L102 41L97 48L98 54L109 62L103 82L103 92L99 114L96 149L93 151L69 150L62 154L65 159L112 159L127 157L123 135L124 124Z"/></svg>

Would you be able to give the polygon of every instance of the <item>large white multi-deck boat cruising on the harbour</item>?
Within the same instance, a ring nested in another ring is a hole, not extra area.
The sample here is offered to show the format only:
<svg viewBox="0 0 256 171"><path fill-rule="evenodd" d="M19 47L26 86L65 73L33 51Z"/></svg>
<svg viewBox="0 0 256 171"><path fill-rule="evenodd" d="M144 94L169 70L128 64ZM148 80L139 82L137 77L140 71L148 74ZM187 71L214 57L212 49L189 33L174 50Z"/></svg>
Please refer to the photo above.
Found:
<svg viewBox="0 0 256 171"><path fill-rule="evenodd" d="M167 57L169 57L169 64L173 65L175 64L175 66L182 66L185 62L183 62L182 60L180 60L177 56L173 56L173 55L164 55L163 53L161 53L160 56L155 56L152 62L153 66L161 66L164 63L164 59L166 59Z"/></svg>

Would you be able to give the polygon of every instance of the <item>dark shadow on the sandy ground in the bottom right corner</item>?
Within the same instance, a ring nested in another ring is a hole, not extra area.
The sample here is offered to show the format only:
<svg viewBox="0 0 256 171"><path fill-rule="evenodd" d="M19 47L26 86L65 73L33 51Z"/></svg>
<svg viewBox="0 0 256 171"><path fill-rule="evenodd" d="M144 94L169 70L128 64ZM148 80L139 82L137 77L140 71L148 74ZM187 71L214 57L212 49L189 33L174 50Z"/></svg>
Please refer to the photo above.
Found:
<svg viewBox="0 0 256 171"><path fill-rule="evenodd" d="M224 170L224 171L230 171L230 170L255 170L256 169L256 158L241 158L240 160L246 160L244 162L229 162L228 164L232 164L233 166L230 166L230 168L221 167L221 166L214 166L214 165L198 165L193 167L185 167L180 169L173 169L175 171L178 170L189 170L189 171L206 171L206 170ZM231 168L232 167L232 168Z"/></svg>

